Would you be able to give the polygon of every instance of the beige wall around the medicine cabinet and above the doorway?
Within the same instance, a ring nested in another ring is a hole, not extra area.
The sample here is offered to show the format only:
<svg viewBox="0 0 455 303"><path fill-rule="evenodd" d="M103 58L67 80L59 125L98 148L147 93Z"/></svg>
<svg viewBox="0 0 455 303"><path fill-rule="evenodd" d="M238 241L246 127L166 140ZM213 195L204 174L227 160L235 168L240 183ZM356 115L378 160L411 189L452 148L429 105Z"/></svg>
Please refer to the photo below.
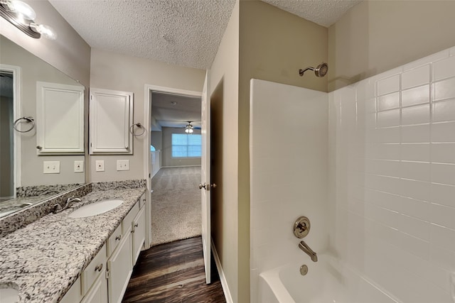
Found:
<svg viewBox="0 0 455 303"><path fill-rule="evenodd" d="M133 92L134 123L144 124L145 84L201 92L204 79L205 70L92 49L90 87ZM91 170L90 180L100 182L143 179L145 138L133 138L133 155L91 155L90 167L95 167L95 160L105 160L105 172ZM129 170L117 172L116 164L120 159L129 160Z"/></svg>

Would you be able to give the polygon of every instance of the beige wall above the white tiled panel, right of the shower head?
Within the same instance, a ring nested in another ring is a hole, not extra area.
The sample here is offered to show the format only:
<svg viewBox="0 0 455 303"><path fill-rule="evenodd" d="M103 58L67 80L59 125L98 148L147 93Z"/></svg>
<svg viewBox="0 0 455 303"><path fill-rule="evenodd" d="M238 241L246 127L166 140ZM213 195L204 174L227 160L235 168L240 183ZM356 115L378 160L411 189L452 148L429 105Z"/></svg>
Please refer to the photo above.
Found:
<svg viewBox="0 0 455 303"><path fill-rule="evenodd" d="M363 1L328 29L328 90L455 45L455 1Z"/></svg>

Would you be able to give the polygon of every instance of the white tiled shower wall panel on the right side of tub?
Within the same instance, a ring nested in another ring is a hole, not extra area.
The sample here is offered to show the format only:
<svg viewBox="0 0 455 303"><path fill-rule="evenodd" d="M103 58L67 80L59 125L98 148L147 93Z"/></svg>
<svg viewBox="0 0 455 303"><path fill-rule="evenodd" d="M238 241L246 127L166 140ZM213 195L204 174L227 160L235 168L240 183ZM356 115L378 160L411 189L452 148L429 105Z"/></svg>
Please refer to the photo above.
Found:
<svg viewBox="0 0 455 303"><path fill-rule="evenodd" d="M449 303L455 48L329 94L331 249L397 302Z"/></svg>

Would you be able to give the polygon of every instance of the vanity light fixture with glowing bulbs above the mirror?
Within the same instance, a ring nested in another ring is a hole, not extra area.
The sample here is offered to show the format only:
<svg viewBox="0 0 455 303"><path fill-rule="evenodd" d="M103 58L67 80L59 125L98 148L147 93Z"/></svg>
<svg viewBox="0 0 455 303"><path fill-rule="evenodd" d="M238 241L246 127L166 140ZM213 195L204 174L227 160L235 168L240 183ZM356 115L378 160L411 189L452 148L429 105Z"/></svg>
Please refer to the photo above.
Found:
<svg viewBox="0 0 455 303"><path fill-rule="evenodd" d="M39 39L41 35L50 40L57 38L50 26L35 23L35 11L23 1L0 0L0 16L32 38Z"/></svg>

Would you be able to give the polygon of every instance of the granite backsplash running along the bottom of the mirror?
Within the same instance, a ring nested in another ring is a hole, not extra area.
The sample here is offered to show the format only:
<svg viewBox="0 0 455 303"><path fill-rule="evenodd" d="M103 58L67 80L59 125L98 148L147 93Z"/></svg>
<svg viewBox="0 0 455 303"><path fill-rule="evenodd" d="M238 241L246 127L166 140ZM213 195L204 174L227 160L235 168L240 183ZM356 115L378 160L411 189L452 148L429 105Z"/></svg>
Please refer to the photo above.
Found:
<svg viewBox="0 0 455 303"><path fill-rule="evenodd" d="M89 192L92 192L92 184L84 184L71 190L70 192L64 192L63 194L49 197L44 199L44 201L40 197L41 200L38 204L26 207L21 211L17 211L9 216L0 218L0 238L43 218L43 216L47 214L50 214L53 210L53 205L56 203L63 203L66 199L73 196L82 197ZM36 197L31 198L36 200ZM14 199L14 201L16 205L21 205L23 203L27 203L26 201L28 201L28 198L18 198Z"/></svg>

